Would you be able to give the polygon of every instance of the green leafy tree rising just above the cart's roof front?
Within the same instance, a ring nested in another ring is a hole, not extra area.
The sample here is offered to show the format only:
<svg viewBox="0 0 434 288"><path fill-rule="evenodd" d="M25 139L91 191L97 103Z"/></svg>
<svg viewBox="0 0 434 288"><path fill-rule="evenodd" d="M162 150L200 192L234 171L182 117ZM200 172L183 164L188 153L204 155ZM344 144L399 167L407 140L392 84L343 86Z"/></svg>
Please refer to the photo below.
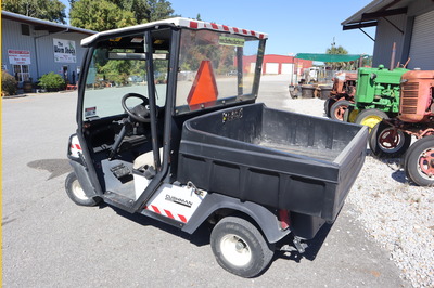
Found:
<svg viewBox="0 0 434 288"><path fill-rule="evenodd" d="M106 0L76 1L69 12L71 25L103 31L136 25L132 12L122 10Z"/></svg>

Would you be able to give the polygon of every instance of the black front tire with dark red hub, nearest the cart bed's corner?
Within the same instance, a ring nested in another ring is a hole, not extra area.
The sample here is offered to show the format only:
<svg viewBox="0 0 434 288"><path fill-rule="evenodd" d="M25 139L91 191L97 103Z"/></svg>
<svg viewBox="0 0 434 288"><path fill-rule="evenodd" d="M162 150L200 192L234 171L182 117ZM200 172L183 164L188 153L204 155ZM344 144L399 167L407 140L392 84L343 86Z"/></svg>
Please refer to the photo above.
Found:
<svg viewBox="0 0 434 288"><path fill-rule="evenodd" d="M406 153L411 135L381 121L371 131L369 148L376 157L396 158Z"/></svg>

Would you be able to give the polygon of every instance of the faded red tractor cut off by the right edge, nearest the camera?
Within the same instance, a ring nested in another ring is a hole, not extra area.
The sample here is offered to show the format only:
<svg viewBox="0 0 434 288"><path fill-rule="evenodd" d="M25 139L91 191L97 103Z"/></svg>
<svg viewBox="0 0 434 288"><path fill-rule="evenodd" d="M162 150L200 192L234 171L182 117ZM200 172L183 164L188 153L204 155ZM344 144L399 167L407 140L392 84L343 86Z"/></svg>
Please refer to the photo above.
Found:
<svg viewBox="0 0 434 288"><path fill-rule="evenodd" d="M417 141L411 144L411 136ZM409 180L434 185L434 70L411 70L401 77L399 115L378 123L369 141L379 157L404 156Z"/></svg>

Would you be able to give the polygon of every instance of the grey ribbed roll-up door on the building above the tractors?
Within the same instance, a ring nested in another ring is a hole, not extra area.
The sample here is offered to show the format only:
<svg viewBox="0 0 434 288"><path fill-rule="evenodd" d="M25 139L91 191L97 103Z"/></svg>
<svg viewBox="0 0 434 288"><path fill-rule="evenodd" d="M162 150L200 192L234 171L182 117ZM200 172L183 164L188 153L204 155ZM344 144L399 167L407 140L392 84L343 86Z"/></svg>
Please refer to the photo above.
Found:
<svg viewBox="0 0 434 288"><path fill-rule="evenodd" d="M434 10L414 18L408 67L434 70Z"/></svg>

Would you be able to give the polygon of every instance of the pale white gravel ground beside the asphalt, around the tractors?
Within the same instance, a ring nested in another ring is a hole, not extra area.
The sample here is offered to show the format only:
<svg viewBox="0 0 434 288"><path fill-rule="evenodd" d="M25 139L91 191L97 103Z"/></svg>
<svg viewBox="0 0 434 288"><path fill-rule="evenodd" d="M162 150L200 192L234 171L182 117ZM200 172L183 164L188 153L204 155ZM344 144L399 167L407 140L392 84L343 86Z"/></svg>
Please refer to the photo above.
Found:
<svg viewBox="0 0 434 288"><path fill-rule="evenodd" d="M288 99L284 108L323 116L323 100ZM370 150L348 194L350 211L391 254L414 287L434 287L434 187L410 184L399 159L376 159Z"/></svg>

